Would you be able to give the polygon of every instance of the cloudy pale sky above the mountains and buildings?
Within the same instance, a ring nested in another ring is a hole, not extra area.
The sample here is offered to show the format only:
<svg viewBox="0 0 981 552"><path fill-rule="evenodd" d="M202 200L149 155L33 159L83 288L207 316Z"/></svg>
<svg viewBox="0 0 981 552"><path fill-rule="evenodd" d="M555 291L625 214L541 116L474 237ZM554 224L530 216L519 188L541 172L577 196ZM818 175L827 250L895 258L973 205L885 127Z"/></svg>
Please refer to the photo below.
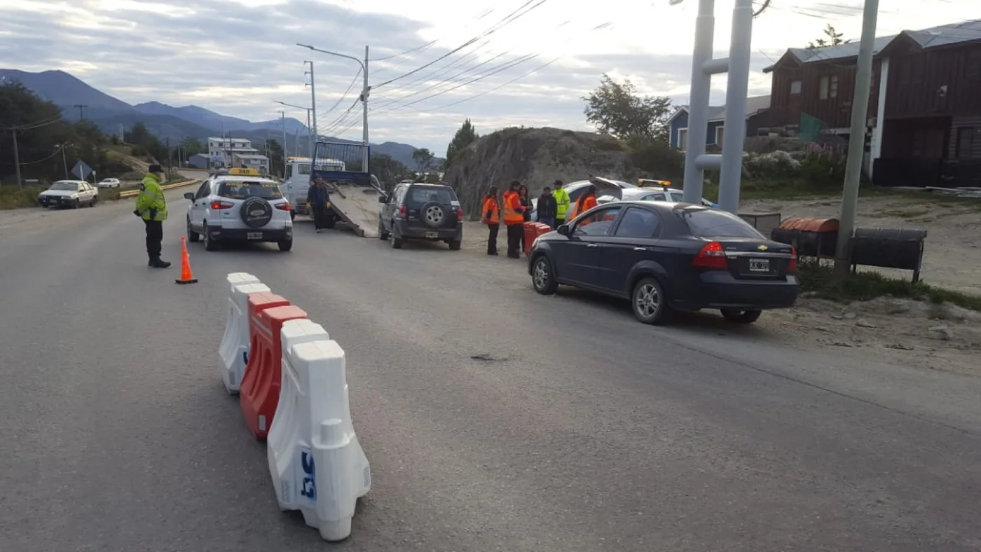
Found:
<svg viewBox="0 0 981 552"><path fill-rule="evenodd" d="M974 3L884 1L879 34L976 17ZM716 1L717 49L728 45L733 4ZM769 93L762 68L786 48L806 46L824 25L857 37L860 6L772 0L753 28L749 94ZM684 104L697 0L0 0L0 7L7 68L61 69L131 104L275 119L276 100L309 105L303 62L313 61L321 133L350 138L361 135L360 106L348 112L361 86L359 65L295 44L356 58L367 44L371 141L442 154L467 117L482 133L511 125L588 129L582 97L603 73ZM725 85L724 75L713 78L713 103L723 103ZM290 115L305 119L302 111Z"/></svg>

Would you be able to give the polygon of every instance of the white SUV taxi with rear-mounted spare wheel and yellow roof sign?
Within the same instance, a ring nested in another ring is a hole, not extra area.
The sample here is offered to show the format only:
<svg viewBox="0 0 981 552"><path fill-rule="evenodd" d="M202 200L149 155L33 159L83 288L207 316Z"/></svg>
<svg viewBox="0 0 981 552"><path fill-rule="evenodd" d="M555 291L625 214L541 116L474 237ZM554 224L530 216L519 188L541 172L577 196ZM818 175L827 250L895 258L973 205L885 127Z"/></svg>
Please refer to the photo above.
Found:
<svg viewBox="0 0 981 552"><path fill-rule="evenodd" d="M210 176L197 192L185 193L187 240L204 239L214 251L222 242L276 242L281 251L293 247L289 202L280 185L255 169L231 169L228 175Z"/></svg>

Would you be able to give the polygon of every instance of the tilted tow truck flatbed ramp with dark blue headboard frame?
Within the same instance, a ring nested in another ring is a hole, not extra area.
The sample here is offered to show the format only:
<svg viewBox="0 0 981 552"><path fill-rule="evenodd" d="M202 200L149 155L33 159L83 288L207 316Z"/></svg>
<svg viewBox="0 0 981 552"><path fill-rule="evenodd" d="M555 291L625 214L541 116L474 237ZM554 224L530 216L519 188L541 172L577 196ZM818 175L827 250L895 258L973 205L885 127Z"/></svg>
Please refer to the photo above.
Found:
<svg viewBox="0 0 981 552"><path fill-rule="evenodd" d="M325 158L342 162L343 168L320 169L317 160ZM366 158L370 158L367 144L318 141L312 164L317 169L310 181L319 179L327 185L331 208L340 222L361 237L378 237L378 198L386 193L367 167L362 170Z"/></svg>

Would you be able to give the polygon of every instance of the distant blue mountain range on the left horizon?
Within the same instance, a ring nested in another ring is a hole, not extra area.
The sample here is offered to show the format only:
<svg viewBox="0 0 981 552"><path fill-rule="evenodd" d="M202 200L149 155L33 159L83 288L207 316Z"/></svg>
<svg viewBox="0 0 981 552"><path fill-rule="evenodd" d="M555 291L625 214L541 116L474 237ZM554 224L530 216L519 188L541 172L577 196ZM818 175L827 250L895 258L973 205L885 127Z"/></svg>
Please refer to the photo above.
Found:
<svg viewBox="0 0 981 552"><path fill-rule="evenodd" d="M223 132L235 138L248 138L253 144L263 143L267 138L283 141L283 127L286 129L286 149L290 155L310 155L307 135L310 130L294 118L284 121L251 122L229 117L195 105L174 107L161 102L145 102L130 105L105 92L89 86L75 75L64 71L26 71L0 69L0 80L20 81L39 97L61 108L66 119L77 121L79 117L99 125L106 133L118 134L128 130L136 123L142 123L161 140L181 142L185 138L205 139L221 136ZM78 106L84 106L79 109ZM355 143L353 140L322 136L329 140ZM398 142L372 144L373 154L384 154L392 159L415 167L412 154L418 148Z"/></svg>

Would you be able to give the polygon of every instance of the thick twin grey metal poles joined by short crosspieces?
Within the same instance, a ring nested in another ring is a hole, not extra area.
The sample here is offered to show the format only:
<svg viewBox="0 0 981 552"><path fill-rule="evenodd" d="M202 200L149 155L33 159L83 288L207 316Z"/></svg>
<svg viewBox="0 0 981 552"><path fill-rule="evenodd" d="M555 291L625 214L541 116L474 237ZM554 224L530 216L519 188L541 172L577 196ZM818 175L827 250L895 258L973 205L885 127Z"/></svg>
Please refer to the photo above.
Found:
<svg viewBox="0 0 981 552"><path fill-rule="evenodd" d="M683 1L669 0L669 4L677 5ZM715 39L715 0L698 0L695 51L692 55L692 91L688 108L688 142L685 147L684 198L688 203L700 203L705 170L718 170L721 171L719 207L733 214L739 212L740 182L743 176L752 16L752 0L736 0L729 57L714 59L712 48ZM706 154L712 75L723 73L729 74L729 84L726 89L722 155Z"/></svg>

